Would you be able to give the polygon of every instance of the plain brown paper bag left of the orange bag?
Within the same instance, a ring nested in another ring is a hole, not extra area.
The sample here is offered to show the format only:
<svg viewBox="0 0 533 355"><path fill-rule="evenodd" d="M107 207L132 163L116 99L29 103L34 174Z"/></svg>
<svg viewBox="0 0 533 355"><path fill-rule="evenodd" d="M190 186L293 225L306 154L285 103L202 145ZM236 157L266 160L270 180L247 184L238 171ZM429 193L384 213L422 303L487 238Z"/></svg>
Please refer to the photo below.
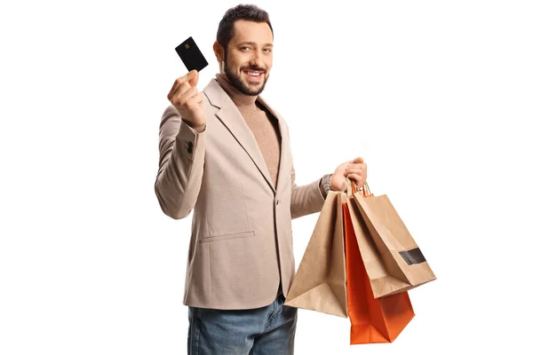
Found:
<svg viewBox="0 0 533 355"><path fill-rule="evenodd" d="M346 197L346 193L328 193L285 305L348 316L343 228Z"/></svg>

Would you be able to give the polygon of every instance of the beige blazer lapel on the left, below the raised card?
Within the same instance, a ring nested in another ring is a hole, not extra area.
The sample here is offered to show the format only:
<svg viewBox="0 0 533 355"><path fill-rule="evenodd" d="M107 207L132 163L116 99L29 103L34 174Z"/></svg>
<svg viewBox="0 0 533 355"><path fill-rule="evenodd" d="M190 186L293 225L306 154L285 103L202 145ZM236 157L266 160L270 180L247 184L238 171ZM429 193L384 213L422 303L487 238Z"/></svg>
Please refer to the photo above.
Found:
<svg viewBox="0 0 533 355"><path fill-rule="evenodd" d="M250 156L252 162L254 162L261 172L261 175L265 177L268 185L275 193L274 183L270 177L267 163L263 158L263 154L259 149L255 136L248 127L248 124L244 121L243 115L239 112L239 109L215 79L211 79L211 83L205 87L203 92L210 100L211 105L219 108L219 112L217 112L216 115L220 122L226 126L227 130L231 132L235 140Z"/></svg>

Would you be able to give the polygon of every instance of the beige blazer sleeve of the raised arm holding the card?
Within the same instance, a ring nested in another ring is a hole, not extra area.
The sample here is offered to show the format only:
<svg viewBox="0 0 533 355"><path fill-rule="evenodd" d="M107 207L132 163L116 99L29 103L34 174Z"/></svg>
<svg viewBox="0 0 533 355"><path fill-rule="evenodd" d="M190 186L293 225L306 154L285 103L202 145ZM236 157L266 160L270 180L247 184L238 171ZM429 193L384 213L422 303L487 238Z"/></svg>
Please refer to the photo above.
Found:
<svg viewBox="0 0 533 355"><path fill-rule="evenodd" d="M202 185L206 130L196 132L181 120L174 106L163 113L155 195L163 213L171 218L187 217L195 207Z"/></svg>

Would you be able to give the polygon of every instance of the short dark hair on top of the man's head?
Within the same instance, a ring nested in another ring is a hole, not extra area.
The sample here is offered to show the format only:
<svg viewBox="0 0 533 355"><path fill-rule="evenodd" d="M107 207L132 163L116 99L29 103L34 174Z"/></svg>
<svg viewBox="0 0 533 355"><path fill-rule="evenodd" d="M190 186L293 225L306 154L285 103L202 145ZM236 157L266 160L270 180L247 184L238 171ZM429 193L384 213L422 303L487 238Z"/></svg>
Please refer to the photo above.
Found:
<svg viewBox="0 0 533 355"><path fill-rule="evenodd" d="M268 18L268 12L259 9L258 6L252 4L239 4L227 10L224 17L219 22L219 30L217 31L217 42L222 45L224 50L227 50L227 43L235 36L234 23L236 20L249 20L254 22L267 22L268 27L272 31L274 37L274 30Z"/></svg>

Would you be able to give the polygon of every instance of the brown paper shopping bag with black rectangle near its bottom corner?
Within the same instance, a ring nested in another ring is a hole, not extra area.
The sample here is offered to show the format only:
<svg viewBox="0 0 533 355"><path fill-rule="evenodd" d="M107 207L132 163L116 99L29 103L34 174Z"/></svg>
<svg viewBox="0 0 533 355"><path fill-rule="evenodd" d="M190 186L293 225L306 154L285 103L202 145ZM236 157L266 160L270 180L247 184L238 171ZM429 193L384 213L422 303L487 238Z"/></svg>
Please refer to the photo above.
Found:
<svg viewBox="0 0 533 355"><path fill-rule="evenodd" d="M436 280L402 218L386 195L374 196L368 185L361 192L348 193L351 213L357 210L371 236L358 238L363 263L375 297L416 288ZM358 235L355 231L356 236ZM364 235L363 233L359 234Z"/></svg>

